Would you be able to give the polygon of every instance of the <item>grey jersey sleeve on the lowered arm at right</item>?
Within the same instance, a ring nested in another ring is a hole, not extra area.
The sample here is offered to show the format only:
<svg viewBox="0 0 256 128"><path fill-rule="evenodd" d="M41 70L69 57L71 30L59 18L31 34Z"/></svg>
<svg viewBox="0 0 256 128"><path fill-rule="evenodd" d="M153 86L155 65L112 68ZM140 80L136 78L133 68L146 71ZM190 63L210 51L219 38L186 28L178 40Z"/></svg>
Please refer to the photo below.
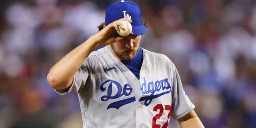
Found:
<svg viewBox="0 0 256 128"><path fill-rule="evenodd" d="M194 109L194 104L188 98L185 90L182 87L182 82L176 67L173 69L172 78L172 118L178 119Z"/></svg>

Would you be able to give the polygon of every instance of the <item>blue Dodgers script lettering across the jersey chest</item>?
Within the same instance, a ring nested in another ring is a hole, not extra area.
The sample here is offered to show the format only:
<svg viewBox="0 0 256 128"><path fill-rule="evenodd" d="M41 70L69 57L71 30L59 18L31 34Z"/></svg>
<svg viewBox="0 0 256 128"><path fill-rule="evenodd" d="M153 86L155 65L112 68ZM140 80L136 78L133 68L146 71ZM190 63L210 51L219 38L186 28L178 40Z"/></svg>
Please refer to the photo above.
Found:
<svg viewBox="0 0 256 128"><path fill-rule="evenodd" d="M139 98L138 102L145 101L145 105L148 106L154 98L158 98L164 94L168 94L171 92L171 85L168 82L168 78L156 81L146 82L146 78L143 78L144 82L141 84L141 92L143 96ZM132 93L132 87L130 84L124 84L122 86L119 82L115 80L106 80L100 85L100 90L102 92L106 91L106 95L101 97L102 101L107 101L110 99L118 99L122 96L126 96L127 98L121 98L121 100L112 102L108 105L108 108L120 108L126 104L132 103L136 101L135 96L130 96ZM129 97L130 96L130 97Z"/></svg>

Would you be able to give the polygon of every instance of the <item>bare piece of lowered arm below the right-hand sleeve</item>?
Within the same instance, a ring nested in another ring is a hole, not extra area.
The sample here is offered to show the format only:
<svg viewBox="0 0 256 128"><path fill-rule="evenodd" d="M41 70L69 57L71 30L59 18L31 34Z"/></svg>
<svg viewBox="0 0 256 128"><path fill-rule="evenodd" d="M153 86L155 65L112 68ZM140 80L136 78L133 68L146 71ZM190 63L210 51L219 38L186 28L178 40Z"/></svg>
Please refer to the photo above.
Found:
<svg viewBox="0 0 256 128"><path fill-rule="evenodd" d="M204 125L194 110L190 111L182 118L179 118L178 122L180 124L180 128L204 128Z"/></svg>

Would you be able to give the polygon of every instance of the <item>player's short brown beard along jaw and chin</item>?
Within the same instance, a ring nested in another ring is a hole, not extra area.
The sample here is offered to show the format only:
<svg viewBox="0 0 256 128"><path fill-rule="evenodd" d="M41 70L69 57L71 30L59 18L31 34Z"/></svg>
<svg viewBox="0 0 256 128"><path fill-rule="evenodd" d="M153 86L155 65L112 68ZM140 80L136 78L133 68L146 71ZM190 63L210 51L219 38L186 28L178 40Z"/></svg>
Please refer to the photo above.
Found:
<svg viewBox="0 0 256 128"><path fill-rule="evenodd" d="M139 51L139 47L132 48L132 49L127 48L127 49L118 51L114 47L114 44L111 44L110 46L111 46L112 50L114 51L114 53L116 54L116 56L118 56L121 60L124 60L124 61L132 60Z"/></svg>

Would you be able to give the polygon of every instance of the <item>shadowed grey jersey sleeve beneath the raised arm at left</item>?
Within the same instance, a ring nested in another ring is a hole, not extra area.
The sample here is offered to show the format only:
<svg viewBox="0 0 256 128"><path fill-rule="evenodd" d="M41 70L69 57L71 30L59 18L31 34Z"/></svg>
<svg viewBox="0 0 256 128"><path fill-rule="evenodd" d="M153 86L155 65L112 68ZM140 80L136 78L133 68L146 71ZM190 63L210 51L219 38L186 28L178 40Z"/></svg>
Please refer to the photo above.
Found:
<svg viewBox="0 0 256 128"><path fill-rule="evenodd" d="M84 88L88 77L89 77L89 70L87 67L87 62L84 62L84 64L79 68L79 70L76 72L75 76L73 77L73 82L71 86L65 89L56 90L56 92L60 95L64 95L70 92L82 93L81 88Z"/></svg>

